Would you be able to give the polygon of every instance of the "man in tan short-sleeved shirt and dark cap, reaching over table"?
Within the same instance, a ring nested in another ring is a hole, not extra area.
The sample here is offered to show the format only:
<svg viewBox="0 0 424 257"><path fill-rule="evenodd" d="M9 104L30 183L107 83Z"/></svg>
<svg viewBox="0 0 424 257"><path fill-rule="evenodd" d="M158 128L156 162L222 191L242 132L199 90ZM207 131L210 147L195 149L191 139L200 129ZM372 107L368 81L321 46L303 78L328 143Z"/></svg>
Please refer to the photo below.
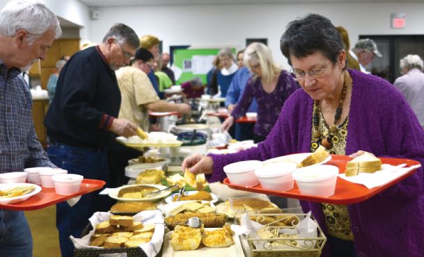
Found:
<svg viewBox="0 0 424 257"><path fill-rule="evenodd" d="M148 112L171 112L188 113L190 106L187 103L168 103L157 96L147 74L152 69L155 58L145 48L136 51L131 61L131 66L122 67L116 71L116 78L120 89L122 101L120 104L119 118L134 122L137 126L149 131ZM125 166L128 160L141 155L140 151L125 147L113 142L109 147L109 163L111 165L111 176L109 182L111 187L118 187L128 183L125 177Z"/></svg>

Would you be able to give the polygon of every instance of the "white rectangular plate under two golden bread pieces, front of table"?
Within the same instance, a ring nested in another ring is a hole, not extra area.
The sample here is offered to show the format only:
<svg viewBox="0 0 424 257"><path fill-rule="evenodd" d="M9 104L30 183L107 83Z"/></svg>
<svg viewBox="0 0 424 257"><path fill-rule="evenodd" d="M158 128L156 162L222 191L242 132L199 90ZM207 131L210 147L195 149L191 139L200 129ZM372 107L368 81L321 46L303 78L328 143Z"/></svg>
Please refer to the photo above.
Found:
<svg viewBox="0 0 424 257"><path fill-rule="evenodd" d="M233 229L233 228L231 228ZM207 231L212 231L215 229L205 228ZM234 229L233 229L234 231ZM169 231L165 234L164 239L164 249L162 257L217 257L217 256L226 256L226 257L244 257L242 244L240 243L239 236L234 233L233 240L234 244L229 247L205 247L203 244L196 250L191 251L174 251L171 245L171 234L173 231Z"/></svg>

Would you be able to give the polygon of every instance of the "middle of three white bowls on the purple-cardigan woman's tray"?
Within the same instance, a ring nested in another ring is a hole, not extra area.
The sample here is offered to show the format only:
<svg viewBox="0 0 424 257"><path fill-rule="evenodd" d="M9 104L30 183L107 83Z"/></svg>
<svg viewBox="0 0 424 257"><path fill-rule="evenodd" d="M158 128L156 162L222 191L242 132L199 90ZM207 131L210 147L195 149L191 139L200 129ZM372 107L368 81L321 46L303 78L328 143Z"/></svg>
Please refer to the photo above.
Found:
<svg viewBox="0 0 424 257"><path fill-rule="evenodd" d="M263 189L286 191L295 184L292 176L295 169L296 163L264 163L255 170L255 175Z"/></svg>

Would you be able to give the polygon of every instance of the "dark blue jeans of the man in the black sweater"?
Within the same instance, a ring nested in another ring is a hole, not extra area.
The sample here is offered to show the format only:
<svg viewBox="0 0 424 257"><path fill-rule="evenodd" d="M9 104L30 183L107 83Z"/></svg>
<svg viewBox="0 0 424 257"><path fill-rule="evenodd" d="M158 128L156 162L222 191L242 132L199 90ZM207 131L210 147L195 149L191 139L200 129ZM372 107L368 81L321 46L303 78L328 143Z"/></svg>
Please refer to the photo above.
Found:
<svg viewBox="0 0 424 257"><path fill-rule="evenodd" d="M47 154L56 166L68 170L68 173L82 175L84 179L107 181L109 165L105 148L86 149L51 144L47 148ZM100 190L84 194L72 207L66 201L56 204L56 227L63 257L74 256L74 245L69 236L79 238L93 213L107 211L111 207L109 196L100 195L99 192Z"/></svg>

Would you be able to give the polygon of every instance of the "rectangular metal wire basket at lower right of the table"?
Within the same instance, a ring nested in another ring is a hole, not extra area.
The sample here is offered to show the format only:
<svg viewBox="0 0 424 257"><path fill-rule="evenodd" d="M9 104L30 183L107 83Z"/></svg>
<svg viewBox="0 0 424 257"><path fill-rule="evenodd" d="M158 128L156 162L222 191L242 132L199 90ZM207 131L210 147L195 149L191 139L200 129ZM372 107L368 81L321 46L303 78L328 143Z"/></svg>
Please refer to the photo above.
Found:
<svg viewBox="0 0 424 257"><path fill-rule="evenodd" d="M263 216L269 215L269 217L275 217L275 213L272 214L256 214L256 219L261 219ZM285 215L294 215L300 219L304 219L306 214L304 213L285 213ZM251 217L251 215L249 215ZM311 216L313 219L313 217ZM284 229L295 229L295 225L288 226L274 226L269 224L272 228L284 228ZM249 244L252 257L319 257L321 256L322 248L324 247L327 238L320 226L317 226L317 237L316 238L267 238L267 239L256 239L249 238L246 236L246 240ZM293 245L291 242L302 242L303 244ZM278 249L272 246L272 242L278 242L280 244L290 245L288 249ZM263 249L256 249L255 244L262 244Z"/></svg>

